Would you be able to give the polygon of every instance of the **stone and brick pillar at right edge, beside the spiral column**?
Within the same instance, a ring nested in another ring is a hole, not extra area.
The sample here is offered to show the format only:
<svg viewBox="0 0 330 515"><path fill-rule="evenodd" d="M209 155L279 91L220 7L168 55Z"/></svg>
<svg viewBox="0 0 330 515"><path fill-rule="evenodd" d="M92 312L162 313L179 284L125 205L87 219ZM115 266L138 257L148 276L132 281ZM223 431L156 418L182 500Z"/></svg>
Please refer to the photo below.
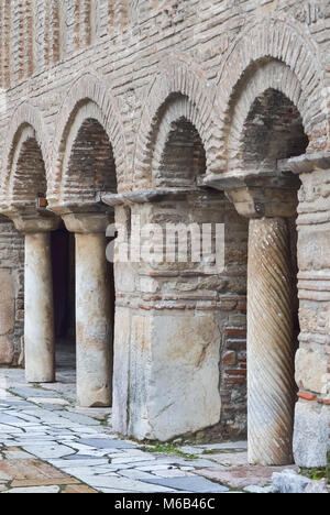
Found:
<svg viewBox="0 0 330 515"><path fill-rule="evenodd" d="M298 264L300 348L296 354L294 456L304 468L329 465L330 449L330 197L322 191L330 154L290 160L299 175Z"/></svg>

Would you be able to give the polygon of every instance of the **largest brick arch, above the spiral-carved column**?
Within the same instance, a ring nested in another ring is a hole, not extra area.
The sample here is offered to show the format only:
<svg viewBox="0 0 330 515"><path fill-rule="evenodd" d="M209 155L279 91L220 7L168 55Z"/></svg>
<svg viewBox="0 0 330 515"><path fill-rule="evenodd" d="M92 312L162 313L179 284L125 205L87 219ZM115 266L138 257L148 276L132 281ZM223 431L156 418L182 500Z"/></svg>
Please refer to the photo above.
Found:
<svg viewBox="0 0 330 515"><path fill-rule="evenodd" d="M245 84L260 67L271 61L288 67L300 86L301 117L310 139L308 151L327 146L328 112L318 50L308 33L297 24L270 17L242 31L222 61L216 100L220 113L218 147L222 158L215 164L212 172L223 171L228 166L228 138L231 125L235 123L232 114L238 99L244 95ZM278 68L278 72L282 73L283 68ZM271 68L265 67L264 81L272 81L272 75Z"/></svg>

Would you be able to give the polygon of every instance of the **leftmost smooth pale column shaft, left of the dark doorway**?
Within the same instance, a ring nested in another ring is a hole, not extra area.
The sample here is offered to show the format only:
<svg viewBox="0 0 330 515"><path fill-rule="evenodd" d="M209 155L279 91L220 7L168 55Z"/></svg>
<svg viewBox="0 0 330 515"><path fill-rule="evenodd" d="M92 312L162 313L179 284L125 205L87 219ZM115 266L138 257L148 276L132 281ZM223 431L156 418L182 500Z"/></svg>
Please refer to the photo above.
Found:
<svg viewBox="0 0 330 515"><path fill-rule="evenodd" d="M55 381L51 233L25 235L25 375L29 383Z"/></svg>

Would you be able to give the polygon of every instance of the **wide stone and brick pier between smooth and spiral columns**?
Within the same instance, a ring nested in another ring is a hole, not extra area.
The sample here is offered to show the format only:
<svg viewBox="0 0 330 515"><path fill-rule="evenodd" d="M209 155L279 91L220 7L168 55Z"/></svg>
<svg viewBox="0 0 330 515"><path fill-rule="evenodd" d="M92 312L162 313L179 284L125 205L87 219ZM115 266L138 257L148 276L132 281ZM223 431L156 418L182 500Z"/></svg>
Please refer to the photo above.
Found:
<svg viewBox="0 0 330 515"><path fill-rule="evenodd" d="M129 263L116 260L113 428L140 440L161 441L220 424L221 430L229 431L223 415L228 404L222 409L220 390L222 393L230 388L233 402L239 403L238 383L232 380L239 380L240 392L244 392L246 371L239 370L234 355L231 376L226 376L222 349L226 328L241 324L242 318L245 322L240 306L245 308L246 222L217 193L183 195L172 189L155 196L142 191L140 197L132 194L130 200L128 205L117 205L116 220L118 227L127 228L131 242L139 240L141 229L140 250L162 240L160 233L151 231L151 223L161 220L165 231L165 224L172 220L189 224L193 213L200 228L202 223L228 221L237 232L235 242L228 242L230 256L223 273L211 270L204 260L139 260L139 245ZM120 240L119 234L118 250ZM241 245L242 258L234 253L237 244ZM233 377L235 372L238 377ZM223 399L227 401L224 396ZM242 419L239 423L244 426ZM213 427L213 431L217 429L220 432L220 426Z"/></svg>

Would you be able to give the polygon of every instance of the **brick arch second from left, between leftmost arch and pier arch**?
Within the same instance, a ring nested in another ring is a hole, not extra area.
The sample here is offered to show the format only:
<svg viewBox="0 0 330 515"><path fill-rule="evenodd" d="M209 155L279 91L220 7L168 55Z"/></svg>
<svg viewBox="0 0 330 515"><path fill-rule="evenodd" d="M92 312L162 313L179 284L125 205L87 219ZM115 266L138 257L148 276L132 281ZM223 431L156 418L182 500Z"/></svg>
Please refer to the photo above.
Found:
<svg viewBox="0 0 330 515"><path fill-rule="evenodd" d="M53 175L50 200L58 202L64 179L64 163L69 149L68 138L77 117L96 119L105 129L113 150L119 191L127 182L127 149L117 99L109 87L90 74L79 78L68 91L57 117L53 144Z"/></svg>

